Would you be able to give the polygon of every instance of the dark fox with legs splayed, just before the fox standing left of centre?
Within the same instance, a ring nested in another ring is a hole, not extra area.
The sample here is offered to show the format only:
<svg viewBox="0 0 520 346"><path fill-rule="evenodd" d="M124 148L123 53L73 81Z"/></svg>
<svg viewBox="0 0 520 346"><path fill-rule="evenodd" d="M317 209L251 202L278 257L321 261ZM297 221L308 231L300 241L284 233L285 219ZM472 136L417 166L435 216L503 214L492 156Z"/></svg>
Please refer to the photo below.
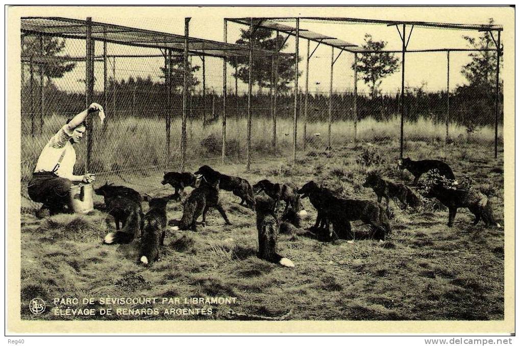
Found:
<svg viewBox="0 0 520 346"><path fill-rule="evenodd" d="M202 225L206 225L206 213L211 208L216 208L224 218L226 225L231 225L226 211L222 207L218 197L219 179L208 181L202 178L200 186L191 191L190 196L184 202L183 217L180 219L178 229L197 230L197 219L202 214Z"/></svg>

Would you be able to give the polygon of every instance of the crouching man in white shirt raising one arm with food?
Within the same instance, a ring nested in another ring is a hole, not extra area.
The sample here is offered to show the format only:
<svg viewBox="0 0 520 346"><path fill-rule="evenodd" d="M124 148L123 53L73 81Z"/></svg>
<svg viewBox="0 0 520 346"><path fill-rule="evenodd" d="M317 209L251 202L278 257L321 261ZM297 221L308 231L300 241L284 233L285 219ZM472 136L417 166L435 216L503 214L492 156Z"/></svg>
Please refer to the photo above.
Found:
<svg viewBox="0 0 520 346"><path fill-rule="evenodd" d="M35 202L43 203L36 217L42 219L64 211L68 203L69 189L74 182L92 183L93 174L74 175L76 152L72 146L79 143L86 131L85 119L103 107L93 103L77 114L50 138L42 150L31 181L28 185L29 197Z"/></svg>

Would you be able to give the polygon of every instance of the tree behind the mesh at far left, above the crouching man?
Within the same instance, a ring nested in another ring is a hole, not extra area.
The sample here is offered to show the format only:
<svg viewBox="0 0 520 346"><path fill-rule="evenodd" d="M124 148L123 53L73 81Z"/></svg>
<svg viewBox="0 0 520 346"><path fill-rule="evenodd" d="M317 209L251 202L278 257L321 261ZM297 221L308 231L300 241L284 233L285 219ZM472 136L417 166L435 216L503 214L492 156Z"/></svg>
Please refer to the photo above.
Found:
<svg viewBox="0 0 520 346"><path fill-rule="evenodd" d="M24 57L41 57L41 56L58 56L65 48L65 39L61 37L42 36L43 54L40 46L40 37L30 35L25 36L22 40L22 56ZM63 56L63 55L61 55ZM69 55L64 55L69 57ZM73 62L46 61L38 64L42 68L42 73L47 78L61 78L66 72L72 71L76 66ZM39 71L39 68L38 68Z"/></svg>

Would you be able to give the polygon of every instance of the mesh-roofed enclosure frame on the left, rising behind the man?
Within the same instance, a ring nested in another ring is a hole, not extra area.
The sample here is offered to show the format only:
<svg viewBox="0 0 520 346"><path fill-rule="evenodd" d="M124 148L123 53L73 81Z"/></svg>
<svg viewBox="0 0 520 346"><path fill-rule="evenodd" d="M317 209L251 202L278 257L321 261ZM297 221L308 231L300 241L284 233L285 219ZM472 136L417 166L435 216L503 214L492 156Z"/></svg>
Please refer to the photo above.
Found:
<svg viewBox="0 0 520 346"><path fill-rule="evenodd" d="M115 25L109 23L101 23L92 21L92 17L87 17L86 20L62 18L62 17L22 17L21 18L21 40L28 35L36 35L38 37L51 36L63 37L66 39L84 39L86 44L85 57L36 57L21 56L21 61L30 63L30 85L31 85L31 126L32 130L35 128L34 119L34 99L32 95L34 84L34 70L33 63L37 61L49 61L59 59L60 61L85 61L85 105L93 101L92 95L94 90L94 61L103 61L103 106L107 106L107 60L113 59L113 73L115 78L115 58L145 58L145 57L164 57L165 60L165 85L167 89L167 103L168 110L166 112L165 127L166 127L166 150L167 156L170 156L170 136L171 136L171 58L173 52L182 53L184 63L184 78L183 78L183 115L181 125L181 140L180 140L180 170L186 169L186 122L188 118L187 113L187 60L190 56L199 56L203 65L205 57L215 57L223 59L223 97L224 109L222 119L222 160L226 158L226 94L227 94L227 61L228 58L245 58L249 57L250 64L253 55L261 56L263 58L273 59L274 56L289 55L288 53L271 52L266 49L258 49L249 45L244 47L238 44L230 44L227 42L218 42L212 40L199 39L197 37L189 36L189 22L191 17L185 18L184 35L158 32L145 29L137 29L131 27L124 27L122 25ZM47 22L45 25L38 25L38 21ZM54 23L54 25L52 25ZM41 40L41 39L40 39ZM226 29L224 29L224 40L226 40ZM96 57L94 55L95 42L103 43L103 55ZM107 55L107 43L120 44L125 46L135 46L144 48L158 48L161 50L161 55ZM43 45L42 45L43 49ZM251 69L250 69L251 71ZM41 74L42 75L42 74ZM238 81L235 81L236 85ZM251 82L250 82L251 83ZM205 69L203 69L203 85L205 86ZM43 77L40 81L41 100L40 100L40 121L43 122ZM115 88L115 84L114 84ZM251 90L251 85L249 86ZM115 89L113 90L115 95ZM205 93L205 90L204 90ZM115 105L115 97L113 98ZM249 170L251 163L251 114L248 117L248 151L246 168ZM41 127L41 126L40 126ZM92 130L92 121L87 123L87 130ZM90 159L92 156L92 135L90 131L86 131L86 146L85 146L85 172L90 169ZM33 131L34 133L34 131Z"/></svg>

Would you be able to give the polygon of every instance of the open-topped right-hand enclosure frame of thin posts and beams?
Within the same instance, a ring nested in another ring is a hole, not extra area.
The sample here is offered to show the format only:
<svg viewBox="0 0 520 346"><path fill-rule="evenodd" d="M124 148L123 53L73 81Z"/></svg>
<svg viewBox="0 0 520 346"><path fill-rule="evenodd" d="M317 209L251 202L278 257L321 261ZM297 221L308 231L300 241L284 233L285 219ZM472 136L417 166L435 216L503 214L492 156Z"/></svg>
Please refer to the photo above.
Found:
<svg viewBox="0 0 520 346"><path fill-rule="evenodd" d="M362 18L348 18L348 17L255 17L255 18L225 18L224 21L230 21L237 24L245 24L246 20L250 20L251 22L256 21L256 27L264 28L271 31L276 31L277 36L278 32L283 32L288 34L289 36L295 36L296 38L296 74L295 74L295 98L294 98L294 112L296 114L298 101L297 101L297 85L298 85L298 56L297 56L297 46L298 40L300 37L307 40L307 63L306 63L306 71L305 71L305 102L304 102L304 137L303 137L303 147L306 148L306 123L307 123L307 99L308 99L308 62L309 58L314 54L316 48L320 45L327 45L332 48L331 54L331 65L330 65L330 101L329 101L329 123L328 123L328 146L327 149L331 149L331 121L332 121L332 83L333 83L333 67L334 62L339 58L341 53L348 52L354 54L354 59L357 62L357 54L358 53L370 53L370 54L387 54L387 53L401 53L401 95L400 95L400 159L403 158L403 148L404 148L404 119L405 119L405 109L406 109L406 97L405 97L405 54L406 53L428 53L428 52L446 52L447 53L447 105L446 105L446 142L449 140L449 55L450 52L497 52L497 68L496 68L496 83L495 83L495 159L498 157L498 115L499 115L499 98L500 98L500 56L503 55L503 47L500 45L500 33L503 31L502 25L497 24L455 24L455 23L438 23L438 22L423 22L423 21L395 21L395 20L378 20L378 19L362 19ZM300 22L308 21L323 21L323 22L349 22L355 24L386 24L388 27L395 26L397 31L399 32L399 37L402 43L401 50L365 50L359 47L358 45L342 41L337 39L336 37L323 35L320 33L312 32L309 30L301 29ZM279 21L290 21L295 22L295 26L280 24ZM411 25L410 32L408 37L406 35L406 27L407 25ZM399 30L399 27L402 28L402 34ZM471 48L436 48L436 49L410 49L408 50L408 43L410 42L410 37L414 27L423 27L423 28L436 28L436 29L457 29L457 30L473 30L473 31L486 31L489 32L493 42L495 43L494 49L471 49ZM304 32L304 34L301 33ZM493 32L497 32L497 40L495 40L495 36L493 36ZM315 47L312 54L309 56L309 48L310 41L316 42L317 46ZM334 48L340 49L339 55L334 58ZM354 71L354 141L357 140L357 122L358 122L358 113L357 113L357 63L355 63L355 71ZM276 93L276 88L275 88ZM276 107L276 106L275 106ZM296 129L297 126L297 117L294 117L293 127ZM293 134L293 161L296 160L296 130L294 130Z"/></svg>

